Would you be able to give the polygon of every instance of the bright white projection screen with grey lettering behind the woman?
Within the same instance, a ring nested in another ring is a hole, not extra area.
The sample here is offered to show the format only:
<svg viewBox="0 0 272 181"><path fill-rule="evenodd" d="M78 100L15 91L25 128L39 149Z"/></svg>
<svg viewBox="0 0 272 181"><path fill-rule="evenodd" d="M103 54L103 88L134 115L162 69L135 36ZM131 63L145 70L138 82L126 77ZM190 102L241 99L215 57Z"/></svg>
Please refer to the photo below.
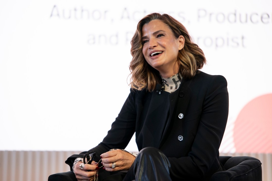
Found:
<svg viewBox="0 0 272 181"><path fill-rule="evenodd" d="M130 39L152 12L183 23L206 55L202 71L227 79L220 151L235 152L237 116L272 93L272 1L1 1L0 150L100 143L129 94Z"/></svg>

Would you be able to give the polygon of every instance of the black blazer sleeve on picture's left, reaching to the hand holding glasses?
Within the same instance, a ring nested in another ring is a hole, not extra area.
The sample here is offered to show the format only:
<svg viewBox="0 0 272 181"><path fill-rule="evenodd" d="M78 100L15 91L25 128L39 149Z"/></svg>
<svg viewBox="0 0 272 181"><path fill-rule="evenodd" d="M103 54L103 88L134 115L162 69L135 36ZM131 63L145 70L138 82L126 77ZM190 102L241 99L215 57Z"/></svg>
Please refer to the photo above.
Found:
<svg viewBox="0 0 272 181"><path fill-rule="evenodd" d="M71 171L75 159L83 158L84 154L87 152L95 151L97 156L94 158L94 161L98 162L100 160L99 155L109 151L110 149L125 149L135 132L135 93L136 91L131 89L128 98L126 99L120 113L118 114L118 117L112 123L111 129L108 131L107 136L101 143L89 151L84 151L80 154L75 154L67 158L65 163L70 166Z"/></svg>

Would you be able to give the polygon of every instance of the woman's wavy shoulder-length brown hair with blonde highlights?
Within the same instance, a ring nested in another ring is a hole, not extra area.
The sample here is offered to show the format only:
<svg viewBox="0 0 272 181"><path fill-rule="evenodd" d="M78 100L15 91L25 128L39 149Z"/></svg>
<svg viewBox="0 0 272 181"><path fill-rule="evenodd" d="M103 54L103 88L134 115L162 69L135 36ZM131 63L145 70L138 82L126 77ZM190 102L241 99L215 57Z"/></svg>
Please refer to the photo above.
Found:
<svg viewBox="0 0 272 181"><path fill-rule="evenodd" d="M144 24L152 20L161 20L173 32L174 36L178 38L180 35L184 36L184 48L178 53L177 61L180 63L179 72L185 79L190 79L196 75L196 70L201 69L206 63L206 58L203 51L194 44L186 28L168 14L152 13L140 20L137 25L136 32L131 39L131 55L132 60L129 65L130 69L130 86L132 89L143 90L151 92L156 88L158 83L161 83L159 72L151 67L144 59L142 48L142 27Z"/></svg>

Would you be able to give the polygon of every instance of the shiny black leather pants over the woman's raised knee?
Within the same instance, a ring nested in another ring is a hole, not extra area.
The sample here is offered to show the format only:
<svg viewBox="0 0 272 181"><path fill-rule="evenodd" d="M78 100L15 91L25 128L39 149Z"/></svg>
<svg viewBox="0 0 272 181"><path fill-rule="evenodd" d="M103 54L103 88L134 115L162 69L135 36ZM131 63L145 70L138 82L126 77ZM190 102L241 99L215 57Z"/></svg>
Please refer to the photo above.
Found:
<svg viewBox="0 0 272 181"><path fill-rule="evenodd" d="M146 147L137 155L124 181L168 181L170 163L167 157L157 148Z"/></svg>

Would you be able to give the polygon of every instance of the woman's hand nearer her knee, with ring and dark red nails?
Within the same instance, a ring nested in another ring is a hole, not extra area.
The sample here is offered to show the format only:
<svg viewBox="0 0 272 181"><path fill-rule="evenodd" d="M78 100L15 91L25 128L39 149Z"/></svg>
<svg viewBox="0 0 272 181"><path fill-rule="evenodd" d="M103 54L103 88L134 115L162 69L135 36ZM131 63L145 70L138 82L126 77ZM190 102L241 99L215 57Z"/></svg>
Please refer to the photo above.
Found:
<svg viewBox="0 0 272 181"><path fill-rule="evenodd" d="M135 160L132 154L120 149L103 153L101 158L103 169L107 171L128 170ZM112 168L113 163L115 163L115 168Z"/></svg>

